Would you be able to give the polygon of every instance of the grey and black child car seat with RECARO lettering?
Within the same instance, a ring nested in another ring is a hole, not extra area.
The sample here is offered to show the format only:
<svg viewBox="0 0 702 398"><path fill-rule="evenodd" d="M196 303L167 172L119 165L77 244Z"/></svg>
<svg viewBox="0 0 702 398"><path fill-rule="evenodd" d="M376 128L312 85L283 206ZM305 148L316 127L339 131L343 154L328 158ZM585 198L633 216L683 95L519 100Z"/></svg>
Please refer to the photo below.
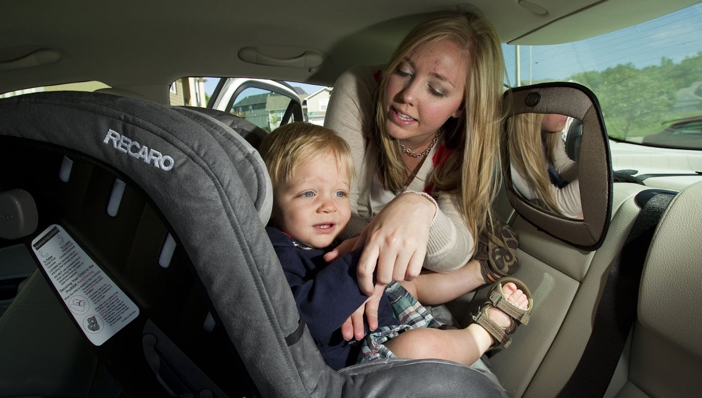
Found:
<svg viewBox="0 0 702 398"><path fill-rule="evenodd" d="M22 169L0 190L32 194L25 243L126 395L503 396L449 361L326 366L263 230L265 168L224 124L97 93L8 98L0 114L0 162Z"/></svg>

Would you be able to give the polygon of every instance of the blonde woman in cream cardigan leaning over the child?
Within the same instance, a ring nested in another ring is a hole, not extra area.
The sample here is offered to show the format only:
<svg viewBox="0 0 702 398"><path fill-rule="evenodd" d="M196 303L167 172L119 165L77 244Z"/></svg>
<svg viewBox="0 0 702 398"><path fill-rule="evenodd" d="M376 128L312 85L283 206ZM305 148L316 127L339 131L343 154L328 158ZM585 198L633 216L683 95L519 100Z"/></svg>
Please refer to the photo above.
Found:
<svg viewBox="0 0 702 398"><path fill-rule="evenodd" d="M336 81L325 126L348 142L358 183L347 240L326 260L364 246L362 291L373 292L374 275L388 284L423 267L468 267L470 289L510 273L471 260L491 228L500 183L504 72L494 27L475 13L449 12L409 32L382 69L354 67ZM373 330L375 309L365 311ZM352 324L362 337L362 322Z"/></svg>

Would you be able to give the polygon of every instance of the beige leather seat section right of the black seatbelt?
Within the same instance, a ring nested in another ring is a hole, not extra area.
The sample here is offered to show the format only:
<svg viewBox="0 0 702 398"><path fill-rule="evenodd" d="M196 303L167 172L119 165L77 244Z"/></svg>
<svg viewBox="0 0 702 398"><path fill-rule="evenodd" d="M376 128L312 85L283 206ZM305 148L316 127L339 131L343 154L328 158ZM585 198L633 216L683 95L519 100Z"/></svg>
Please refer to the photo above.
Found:
<svg viewBox="0 0 702 398"><path fill-rule="evenodd" d="M685 188L658 224L644 265L630 353L620 364L627 378L617 397L700 395L701 197L702 183Z"/></svg>

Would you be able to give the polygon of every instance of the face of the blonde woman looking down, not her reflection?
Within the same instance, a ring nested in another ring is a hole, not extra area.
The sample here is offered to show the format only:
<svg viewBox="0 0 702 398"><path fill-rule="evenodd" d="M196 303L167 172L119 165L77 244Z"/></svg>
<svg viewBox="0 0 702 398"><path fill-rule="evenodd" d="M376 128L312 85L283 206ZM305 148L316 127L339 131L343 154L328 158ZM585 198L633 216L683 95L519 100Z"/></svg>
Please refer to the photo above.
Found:
<svg viewBox="0 0 702 398"><path fill-rule="evenodd" d="M405 145L434 138L449 117L463 114L468 48L444 40L409 53L385 87L385 127Z"/></svg>

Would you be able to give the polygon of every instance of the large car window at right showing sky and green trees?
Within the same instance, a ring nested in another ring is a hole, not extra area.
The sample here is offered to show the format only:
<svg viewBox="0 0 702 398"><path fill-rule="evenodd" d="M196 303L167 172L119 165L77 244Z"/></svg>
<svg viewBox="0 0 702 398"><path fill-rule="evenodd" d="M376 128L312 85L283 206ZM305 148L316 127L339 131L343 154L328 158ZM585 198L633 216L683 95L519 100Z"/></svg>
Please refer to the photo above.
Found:
<svg viewBox="0 0 702 398"><path fill-rule="evenodd" d="M701 31L696 4L572 43L505 44L507 83L583 84L600 100L610 138L702 150Z"/></svg>

